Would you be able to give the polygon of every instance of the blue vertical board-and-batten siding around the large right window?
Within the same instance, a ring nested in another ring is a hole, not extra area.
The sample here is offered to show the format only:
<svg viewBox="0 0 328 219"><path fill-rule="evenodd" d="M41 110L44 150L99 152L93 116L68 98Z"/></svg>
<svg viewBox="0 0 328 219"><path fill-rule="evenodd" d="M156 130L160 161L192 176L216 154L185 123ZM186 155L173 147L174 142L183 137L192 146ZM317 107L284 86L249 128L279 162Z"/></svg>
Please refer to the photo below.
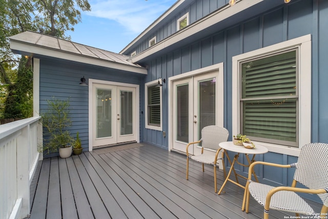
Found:
<svg viewBox="0 0 328 219"><path fill-rule="evenodd" d="M197 4L196 1L195 4ZM188 9L186 9L188 10ZM191 13L191 10L189 10ZM224 66L224 127L232 135L232 57L259 48L274 45L296 37L311 34L312 37L312 124L311 141L328 143L328 1L292 1L270 11L254 15L235 26L218 30L187 47L179 48L160 57L154 57L149 65L146 82L158 77L166 78L223 63ZM168 132L168 90L163 86L163 131ZM145 130L145 140L151 144L168 147L161 132ZM246 162L240 156L241 162ZM297 157L269 152L256 156L257 161L290 164ZM237 165L236 170L246 175L248 168ZM291 185L294 170L277 170L273 167L258 167L256 170L261 181L277 186ZM304 195L317 200L314 195ZM318 201L318 200L317 200Z"/></svg>

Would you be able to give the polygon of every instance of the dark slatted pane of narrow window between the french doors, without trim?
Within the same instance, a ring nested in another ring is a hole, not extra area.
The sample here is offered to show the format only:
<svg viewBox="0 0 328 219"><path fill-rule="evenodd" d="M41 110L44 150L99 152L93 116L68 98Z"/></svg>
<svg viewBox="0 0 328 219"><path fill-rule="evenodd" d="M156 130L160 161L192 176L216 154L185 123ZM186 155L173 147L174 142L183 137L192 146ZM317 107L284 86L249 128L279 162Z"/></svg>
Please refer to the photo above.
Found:
<svg viewBox="0 0 328 219"><path fill-rule="evenodd" d="M148 87L148 125L160 126L160 87Z"/></svg>

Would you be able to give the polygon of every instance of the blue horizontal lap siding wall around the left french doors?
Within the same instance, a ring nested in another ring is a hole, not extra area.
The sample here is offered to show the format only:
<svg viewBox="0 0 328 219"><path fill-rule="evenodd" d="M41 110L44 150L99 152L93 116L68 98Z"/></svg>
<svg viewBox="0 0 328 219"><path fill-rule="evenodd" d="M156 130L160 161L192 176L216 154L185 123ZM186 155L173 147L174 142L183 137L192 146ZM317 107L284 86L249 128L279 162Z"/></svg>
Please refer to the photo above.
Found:
<svg viewBox="0 0 328 219"><path fill-rule="evenodd" d="M76 136L79 132L84 150L89 148L89 90L88 86L80 86L80 78L99 79L103 81L137 84L140 86L140 127L144 126L144 83L145 75L127 73L124 71L85 65L75 62L64 61L56 58L40 58L40 112L47 109L47 99L53 96L59 99L70 98L72 127L70 132ZM140 138L142 131L140 129ZM140 141L141 141L140 139ZM51 154L53 156L55 154ZM49 155L46 155L47 157Z"/></svg>

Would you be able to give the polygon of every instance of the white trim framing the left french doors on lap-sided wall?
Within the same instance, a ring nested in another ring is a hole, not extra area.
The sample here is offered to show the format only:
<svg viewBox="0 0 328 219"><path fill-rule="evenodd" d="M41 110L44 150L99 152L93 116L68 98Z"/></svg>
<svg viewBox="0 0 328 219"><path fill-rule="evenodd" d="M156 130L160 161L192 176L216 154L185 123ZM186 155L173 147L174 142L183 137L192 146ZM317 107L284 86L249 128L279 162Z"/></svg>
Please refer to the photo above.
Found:
<svg viewBox="0 0 328 219"><path fill-rule="evenodd" d="M136 90L136 110L135 110L135 118L136 118L136 123L135 123L135 131L136 131L136 141L139 143L140 142L140 131L139 131L139 126L140 126L140 119L139 119L139 85L135 84L127 84L127 83L120 83L120 82L110 82L110 81L102 81L98 79L92 79L89 78L89 151L92 151L92 140L93 140L93 131L92 131L92 122L93 122L93 107L92 107L92 89L94 84L100 84L100 85L113 85L113 86L118 86L118 87L132 87L135 88Z"/></svg>

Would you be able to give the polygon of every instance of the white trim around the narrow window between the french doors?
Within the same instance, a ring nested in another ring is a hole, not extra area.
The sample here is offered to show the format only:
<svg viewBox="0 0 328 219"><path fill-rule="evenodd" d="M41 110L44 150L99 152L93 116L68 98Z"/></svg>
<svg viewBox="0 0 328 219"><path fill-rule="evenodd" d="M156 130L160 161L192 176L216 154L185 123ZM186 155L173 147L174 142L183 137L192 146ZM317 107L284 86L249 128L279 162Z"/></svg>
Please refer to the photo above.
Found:
<svg viewBox="0 0 328 219"><path fill-rule="evenodd" d="M148 125L148 87L150 86L154 86L158 84L158 80L161 79L157 79L155 81L151 81L145 84L145 127L146 129L153 129L153 130L157 130L157 131L162 131L163 130L163 121L162 121L162 105L163 105L163 99L162 99L162 87L159 88L159 95L160 95L160 125L159 126L152 126L152 125Z"/></svg>

